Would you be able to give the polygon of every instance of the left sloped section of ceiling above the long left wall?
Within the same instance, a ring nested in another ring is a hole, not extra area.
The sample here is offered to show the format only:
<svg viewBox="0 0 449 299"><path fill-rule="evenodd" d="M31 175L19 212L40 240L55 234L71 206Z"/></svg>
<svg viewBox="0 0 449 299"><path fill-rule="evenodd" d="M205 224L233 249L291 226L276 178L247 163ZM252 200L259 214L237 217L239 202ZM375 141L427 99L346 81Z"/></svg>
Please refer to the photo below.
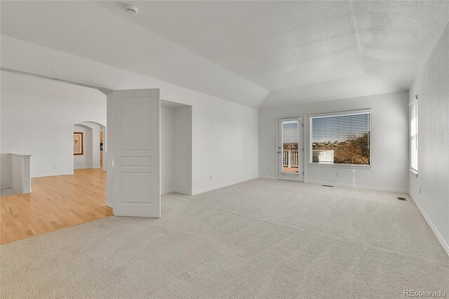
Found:
<svg viewBox="0 0 449 299"><path fill-rule="evenodd" d="M126 69L249 107L259 107L268 93L229 69L132 22L133 15L124 11L124 5L119 10L123 15L112 13L92 1L0 1L0 6L3 36ZM142 15L145 16L145 13ZM2 49L8 48L8 41L11 39L1 40ZM11 55L9 60L4 53ZM40 59L37 55L34 57L34 60ZM11 60L20 58L11 51L1 51L2 67L15 69ZM78 72L79 65L76 62L69 61L67 65L69 70L65 72ZM19 63L18 67L23 66ZM93 64L93 70L98 76L102 76L100 69L100 66L95 68ZM58 77L58 74L53 74L46 67L33 69L32 72ZM84 83L95 85L95 82Z"/></svg>

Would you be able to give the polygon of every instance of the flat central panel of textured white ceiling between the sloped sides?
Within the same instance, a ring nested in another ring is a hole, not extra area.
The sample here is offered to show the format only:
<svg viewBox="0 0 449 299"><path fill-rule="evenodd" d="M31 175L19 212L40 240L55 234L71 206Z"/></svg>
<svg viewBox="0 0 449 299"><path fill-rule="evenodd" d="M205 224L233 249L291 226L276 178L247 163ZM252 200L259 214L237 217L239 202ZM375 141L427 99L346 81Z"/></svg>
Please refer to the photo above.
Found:
<svg viewBox="0 0 449 299"><path fill-rule="evenodd" d="M98 4L111 11L123 6L109 1ZM133 18L135 22L268 90L363 72L349 2L157 1L136 5L142 18Z"/></svg>

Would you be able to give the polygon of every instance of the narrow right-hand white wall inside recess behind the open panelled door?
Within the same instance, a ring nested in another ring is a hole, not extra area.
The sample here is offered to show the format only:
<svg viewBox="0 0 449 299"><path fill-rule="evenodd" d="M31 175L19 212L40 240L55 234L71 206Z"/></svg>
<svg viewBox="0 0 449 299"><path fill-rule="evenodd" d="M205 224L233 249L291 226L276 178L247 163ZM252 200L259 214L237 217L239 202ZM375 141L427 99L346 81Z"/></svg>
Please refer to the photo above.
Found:
<svg viewBox="0 0 449 299"><path fill-rule="evenodd" d="M175 191L192 194L192 107L175 108Z"/></svg>

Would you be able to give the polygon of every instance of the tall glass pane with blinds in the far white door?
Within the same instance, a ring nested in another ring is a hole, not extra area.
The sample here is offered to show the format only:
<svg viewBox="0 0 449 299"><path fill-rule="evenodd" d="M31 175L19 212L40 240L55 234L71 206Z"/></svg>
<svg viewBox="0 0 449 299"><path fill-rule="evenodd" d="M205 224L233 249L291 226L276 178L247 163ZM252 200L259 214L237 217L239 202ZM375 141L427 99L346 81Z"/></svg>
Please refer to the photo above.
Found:
<svg viewBox="0 0 449 299"><path fill-rule="evenodd" d="M299 121L282 122L282 172L298 173Z"/></svg>

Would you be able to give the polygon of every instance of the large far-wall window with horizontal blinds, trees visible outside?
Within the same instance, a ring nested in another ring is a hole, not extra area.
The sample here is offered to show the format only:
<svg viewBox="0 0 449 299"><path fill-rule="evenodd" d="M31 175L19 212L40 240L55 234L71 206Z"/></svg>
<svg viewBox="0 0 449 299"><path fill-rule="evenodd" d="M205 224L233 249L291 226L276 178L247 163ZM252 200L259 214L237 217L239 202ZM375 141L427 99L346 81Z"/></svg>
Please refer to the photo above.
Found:
<svg viewBox="0 0 449 299"><path fill-rule="evenodd" d="M371 112L310 117L311 164L371 165Z"/></svg>

